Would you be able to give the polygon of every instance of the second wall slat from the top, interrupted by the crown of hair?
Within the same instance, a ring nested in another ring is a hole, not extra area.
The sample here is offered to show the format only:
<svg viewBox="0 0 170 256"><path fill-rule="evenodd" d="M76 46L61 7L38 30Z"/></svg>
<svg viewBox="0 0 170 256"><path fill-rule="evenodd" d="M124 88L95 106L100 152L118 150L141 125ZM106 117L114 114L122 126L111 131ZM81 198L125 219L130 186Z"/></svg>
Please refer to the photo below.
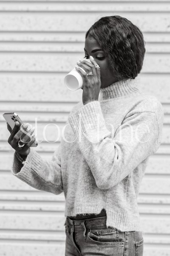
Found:
<svg viewBox="0 0 170 256"><path fill-rule="evenodd" d="M123 16L136 24L142 32L170 32L170 13L123 13ZM0 15L0 31L87 31L100 17L113 15L113 12L102 12L94 15L93 12L59 12L56 13L5 13ZM82 22L83 20L83 22ZM154 20L154 22L153 22ZM81 21L81 22L80 22ZM75 26L76 24L76 26Z"/></svg>

